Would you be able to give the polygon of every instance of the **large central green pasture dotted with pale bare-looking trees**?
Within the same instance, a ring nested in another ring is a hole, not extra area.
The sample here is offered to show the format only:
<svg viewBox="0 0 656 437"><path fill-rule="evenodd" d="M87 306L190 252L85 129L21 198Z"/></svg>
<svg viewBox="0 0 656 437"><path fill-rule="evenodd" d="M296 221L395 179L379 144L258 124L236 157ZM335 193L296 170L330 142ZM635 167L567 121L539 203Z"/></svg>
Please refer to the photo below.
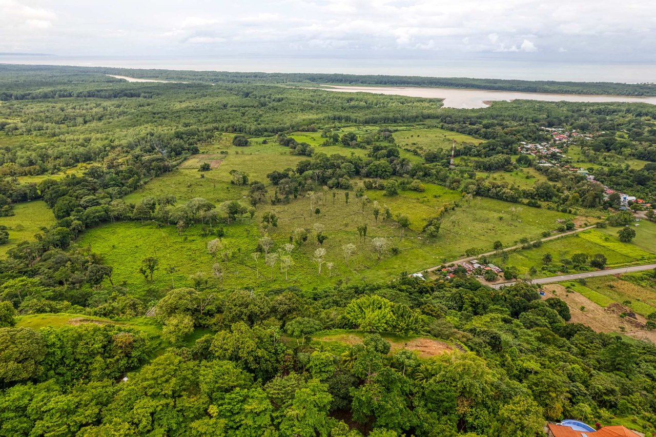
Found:
<svg viewBox="0 0 656 437"><path fill-rule="evenodd" d="M476 198L470 205L449 211L443 217L440 235L429 239L417 230L422 228L426 217L436 215L444 205L450 205L458 197L457 193L430 185L424 193L402 192L392 198L382 196L382 192L367 192L370 199L378 198L381 205L388 204L393 215L398 212L409 215L411 226L401 239L400 227L394 220L375 220L371 203L365 205L363 211L359 199L351 194L348 205L342 191L338 192L335 204L328 193L316 196L312 211L307 197L286 205L259 205L253 221L245 218L226 226L223 251L229 252L230 257L222 262L224 287L271 289L294 285L311 290L337 281L389 280L404 271L419 271L456 259L472 247L480 251L491 250L495 239L510 245L522 237L537 238L544 230L556 228L558 218L571 217L525 207L519 218L511 220L509 209L514 204ZM316 207L320 209L319 215L314 214ZM288 243L295 229L306 228L310 232L308 241L291 253L293 264L287 272L287 280L279 264L271 269L264 264L264 257L257 263L251 257L262 235L260 220L266 211L272 211L278 217L278 226L268 230L276 241L273 251ZM503 219L499 220L499 217ZM313 230L315 224L323 226L323 234L327 236L323 243L327 254L321 275L313 257L318 248ZM358 236L356 228L361 224L367 224L366 239ZM371 243L375 237L384 237L388 241L380 260ZM192 226L184 236L178 236L174 226L157 228L152 222L120 222L85 232L77 244L81 247L90 245L92 251L103 254L105 262L114 268L115 283L144 290L153 286L192 286L194 281L190 276L199 272L218 284L219 281L211 276L215 260L205 249L207 241L212 238L201 236L199 226ZM342 246L346 243L354 243L357 247L348 266L342 255ZM138 272L142 259L146 257L159 259L153 283L148 283ZM326 262L333 262L332 271Z"/></svg>

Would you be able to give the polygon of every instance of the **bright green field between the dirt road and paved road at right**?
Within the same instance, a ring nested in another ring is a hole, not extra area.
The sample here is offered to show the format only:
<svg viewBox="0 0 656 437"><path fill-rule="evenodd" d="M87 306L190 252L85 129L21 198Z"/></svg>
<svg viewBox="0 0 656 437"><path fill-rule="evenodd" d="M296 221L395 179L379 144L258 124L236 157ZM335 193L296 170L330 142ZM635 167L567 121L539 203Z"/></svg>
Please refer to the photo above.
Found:
<svg viewBox="0 0 656 437"><path fill-rule="evenodd" d="M553 264L560 264L561 259L570 259L575 253L586 253L590 257L601 253L606 257L608 267L646 264L656 260L654 247L656 242L653 237L656 233L656 224L641 223L636 228L636 238L630 243L619 241L617 238L619 228L595 228L575 236L547 241L541 247L514 251L508 254L506 262L503 262L501 257L493 257L493 262L516 266L520 274L527 274L531 266L535 266L538 270L537 277L553 276L552 273L540 272L545 253L552 255ZM585 270L594 270L594 268L588 265L579 271Z"/></svg>

